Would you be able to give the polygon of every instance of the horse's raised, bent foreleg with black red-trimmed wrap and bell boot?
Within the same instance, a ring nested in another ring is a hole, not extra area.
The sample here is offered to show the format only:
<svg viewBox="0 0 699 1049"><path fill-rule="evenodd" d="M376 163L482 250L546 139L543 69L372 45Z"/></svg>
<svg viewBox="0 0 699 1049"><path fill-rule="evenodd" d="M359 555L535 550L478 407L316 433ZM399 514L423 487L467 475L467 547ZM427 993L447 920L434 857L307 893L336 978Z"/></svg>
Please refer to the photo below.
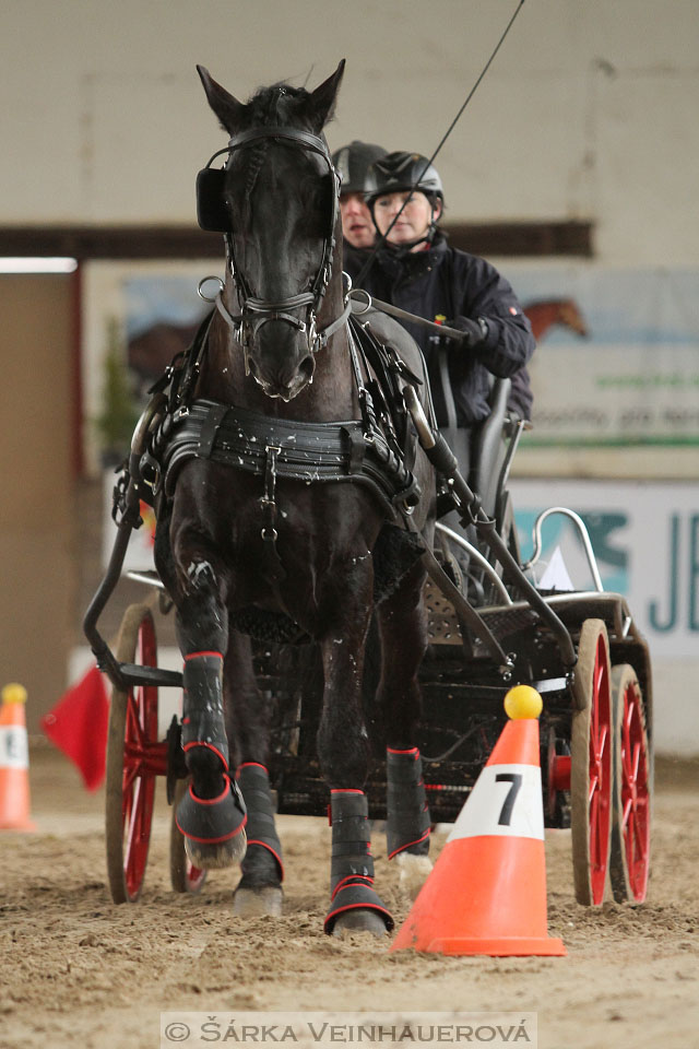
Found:
<svg viewBox="0 0 699 1049"><path fill-rule="evenodd" d="M177 809L177 825L194 865L229 867L245 853L246 814L228 773L223 703L227 614L209 561L190 562L178 602L177 633L185 657L182 749L191 774Z"/></svg>

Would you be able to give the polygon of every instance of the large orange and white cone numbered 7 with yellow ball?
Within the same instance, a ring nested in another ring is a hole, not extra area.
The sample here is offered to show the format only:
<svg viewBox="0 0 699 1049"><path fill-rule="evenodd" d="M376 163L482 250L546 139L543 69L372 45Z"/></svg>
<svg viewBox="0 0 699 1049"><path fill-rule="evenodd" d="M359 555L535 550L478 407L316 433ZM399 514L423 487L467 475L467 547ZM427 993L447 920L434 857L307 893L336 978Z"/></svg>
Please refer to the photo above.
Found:
<svg viewBox="0 0 699 1049"><path fill-rule="evenodd" d="M542 699L518 685L508 721L391 951L561 955L546 928Z"/></svg>

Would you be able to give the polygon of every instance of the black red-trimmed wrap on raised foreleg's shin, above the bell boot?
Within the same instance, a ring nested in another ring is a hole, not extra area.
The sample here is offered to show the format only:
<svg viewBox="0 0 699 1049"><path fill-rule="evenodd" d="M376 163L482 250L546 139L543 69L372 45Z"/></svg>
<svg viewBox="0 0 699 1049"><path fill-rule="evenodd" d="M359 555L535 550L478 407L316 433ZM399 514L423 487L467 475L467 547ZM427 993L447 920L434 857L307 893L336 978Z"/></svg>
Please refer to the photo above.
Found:
<svg viewBox="0 0 699 1049"><path fill-rule="evenodd" d="M192 652L185 657L182 749L205 746L228 768L228 740L223 712L223 656Z"/></svg>

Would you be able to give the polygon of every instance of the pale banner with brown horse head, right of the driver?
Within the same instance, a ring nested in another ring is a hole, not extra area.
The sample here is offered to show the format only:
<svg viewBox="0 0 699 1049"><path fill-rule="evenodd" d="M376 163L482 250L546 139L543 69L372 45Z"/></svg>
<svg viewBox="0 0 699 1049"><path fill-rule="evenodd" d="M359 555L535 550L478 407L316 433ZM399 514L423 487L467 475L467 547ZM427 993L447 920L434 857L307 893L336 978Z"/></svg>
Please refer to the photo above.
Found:
<svg viewBox="0 0 699 1049"><path fill-rule="evenodd" d="M523 447L699 445L699 270L505 270L537 350Z"/></svg>

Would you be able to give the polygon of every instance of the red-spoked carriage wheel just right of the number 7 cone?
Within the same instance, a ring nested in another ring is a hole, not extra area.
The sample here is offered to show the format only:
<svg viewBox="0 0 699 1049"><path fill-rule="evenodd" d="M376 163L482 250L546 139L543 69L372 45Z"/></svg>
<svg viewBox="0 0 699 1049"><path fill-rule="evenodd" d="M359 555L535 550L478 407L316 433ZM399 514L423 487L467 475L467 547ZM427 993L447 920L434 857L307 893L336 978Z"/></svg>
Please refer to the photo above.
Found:
<svg viewBox="0 0 699 1049"><path fill-rule="evenodd" d="M604 898L612 826L612 697L609 643L602 620L580 632L570 740L570 830L576 899Z"/></svg>

